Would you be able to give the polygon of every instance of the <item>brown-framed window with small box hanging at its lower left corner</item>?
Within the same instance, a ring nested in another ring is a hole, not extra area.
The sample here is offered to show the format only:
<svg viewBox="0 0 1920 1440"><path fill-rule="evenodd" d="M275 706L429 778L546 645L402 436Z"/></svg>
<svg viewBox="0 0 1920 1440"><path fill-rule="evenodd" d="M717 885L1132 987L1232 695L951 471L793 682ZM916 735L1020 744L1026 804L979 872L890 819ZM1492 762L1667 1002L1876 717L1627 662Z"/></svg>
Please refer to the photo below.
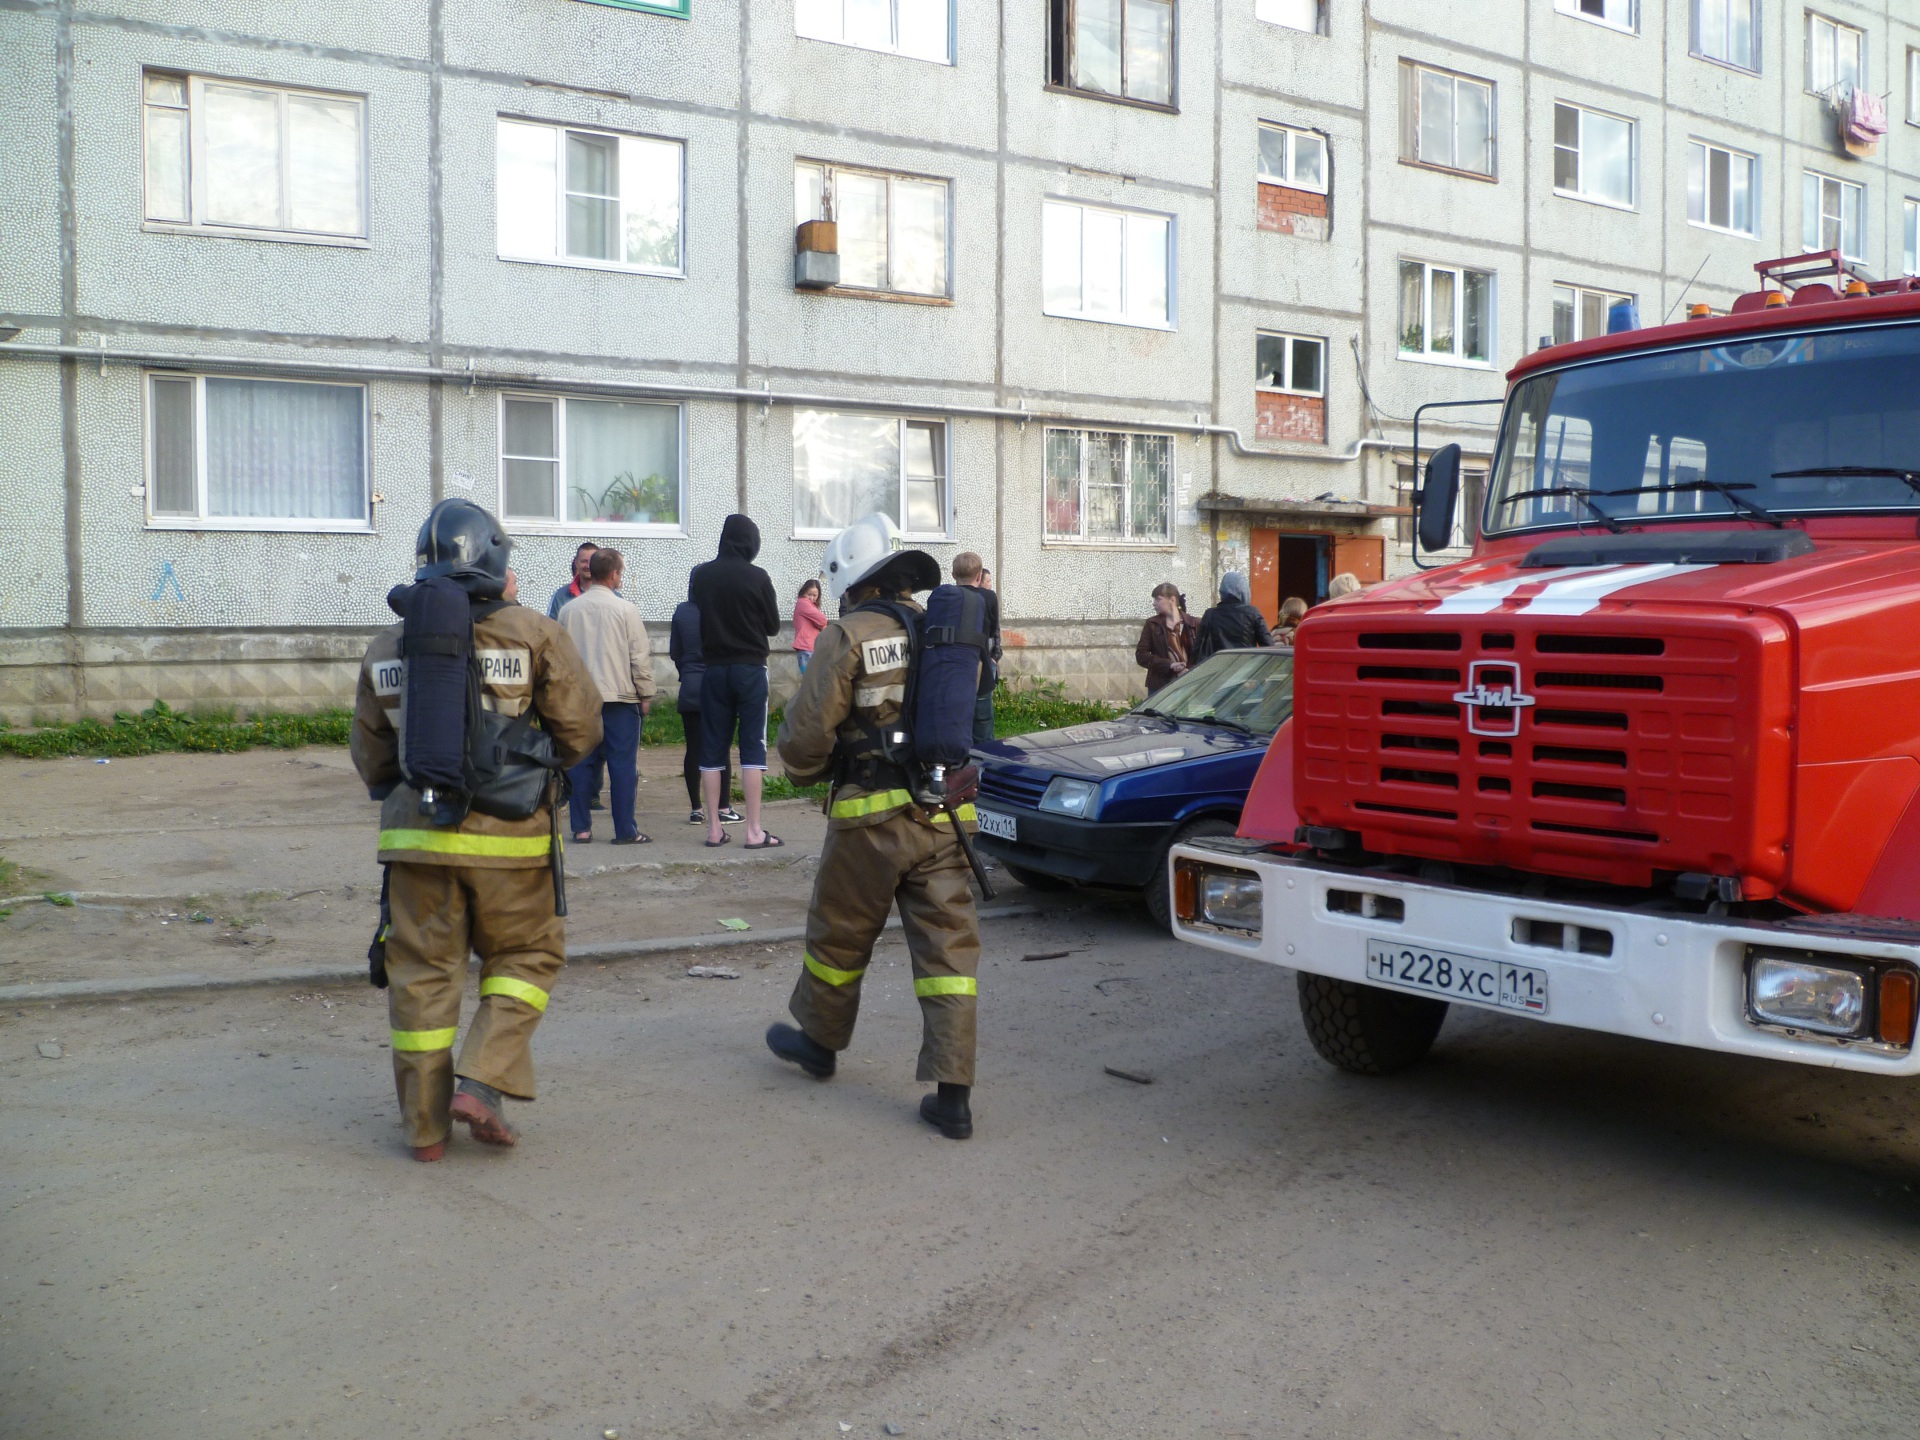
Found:
<svg viewBox="0 0 1920 1440"><path fill-rule="evenodd" d="M948 294L947 180L795 163L795 225L828 219L829 211L839 225L843 286Z"/></svg>

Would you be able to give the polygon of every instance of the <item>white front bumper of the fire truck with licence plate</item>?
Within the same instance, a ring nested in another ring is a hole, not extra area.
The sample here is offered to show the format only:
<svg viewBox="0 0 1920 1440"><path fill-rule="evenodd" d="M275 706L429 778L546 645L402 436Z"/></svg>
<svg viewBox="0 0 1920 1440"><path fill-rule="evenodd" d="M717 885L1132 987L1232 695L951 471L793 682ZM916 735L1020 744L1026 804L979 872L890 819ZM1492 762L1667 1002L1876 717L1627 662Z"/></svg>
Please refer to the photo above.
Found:
<svg viewBox="0 0 1920 1440"><path fill-rule="evenodd" d="M1332 979L1805 1066L1920 1073L1920 933L1534 900L1269 854L1175 847L1173 933Z"/></svg>

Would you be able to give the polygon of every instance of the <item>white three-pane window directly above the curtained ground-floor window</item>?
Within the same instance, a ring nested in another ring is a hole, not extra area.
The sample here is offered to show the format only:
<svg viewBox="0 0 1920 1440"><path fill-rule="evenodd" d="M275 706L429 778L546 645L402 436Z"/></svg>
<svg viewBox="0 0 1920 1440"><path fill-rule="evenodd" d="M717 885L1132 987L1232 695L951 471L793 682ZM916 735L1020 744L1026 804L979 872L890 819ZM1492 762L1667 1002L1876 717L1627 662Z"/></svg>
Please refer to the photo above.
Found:
<svg viewBox="0 0 1920 1440"><path fill-rule="evenodd" d="M236 234L367 234L365 102L146 73L146 219Z"/></svg>

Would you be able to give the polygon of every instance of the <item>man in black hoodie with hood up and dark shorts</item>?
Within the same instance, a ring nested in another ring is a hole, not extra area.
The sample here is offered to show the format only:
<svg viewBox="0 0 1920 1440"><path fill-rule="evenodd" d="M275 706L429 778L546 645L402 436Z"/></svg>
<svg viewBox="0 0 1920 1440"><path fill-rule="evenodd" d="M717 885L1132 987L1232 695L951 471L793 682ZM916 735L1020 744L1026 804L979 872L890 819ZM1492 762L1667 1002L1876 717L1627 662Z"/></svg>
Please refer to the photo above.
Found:
<svg viewBox="0 0 1920 1440"><path fill-rule="evenodd" d="M739 732L739 785L747 795L747 849L778 847L778 835L760 828L760 785L766 781L766 655L768 637L780 634L780 601L774 582L753 557L760 553L760 528L745 515L720 526L720 553L693 572L687 597L701 607L701 799L707 810L707 843L726 845L720 828L720 774L726 770L733 732Z"/></svg>

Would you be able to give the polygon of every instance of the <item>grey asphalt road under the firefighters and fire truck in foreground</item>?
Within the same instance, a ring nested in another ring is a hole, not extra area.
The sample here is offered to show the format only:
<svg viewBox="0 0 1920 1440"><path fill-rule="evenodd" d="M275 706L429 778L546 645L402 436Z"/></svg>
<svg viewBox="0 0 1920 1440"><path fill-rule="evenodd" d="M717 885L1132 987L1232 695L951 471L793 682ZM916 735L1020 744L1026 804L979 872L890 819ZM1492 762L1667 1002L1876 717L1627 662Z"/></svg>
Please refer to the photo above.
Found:
<svg viewBox="0 0 1920 1440"><path fill-rule="evenodd" d="M991 929L950 1142L899 941L829 1083L797 964L570 968L438 1165L365 987L6 1014L0 1432L1920 1432L1910 1087L1459 1012L1354 1079L1112 906Z"/></svg>

